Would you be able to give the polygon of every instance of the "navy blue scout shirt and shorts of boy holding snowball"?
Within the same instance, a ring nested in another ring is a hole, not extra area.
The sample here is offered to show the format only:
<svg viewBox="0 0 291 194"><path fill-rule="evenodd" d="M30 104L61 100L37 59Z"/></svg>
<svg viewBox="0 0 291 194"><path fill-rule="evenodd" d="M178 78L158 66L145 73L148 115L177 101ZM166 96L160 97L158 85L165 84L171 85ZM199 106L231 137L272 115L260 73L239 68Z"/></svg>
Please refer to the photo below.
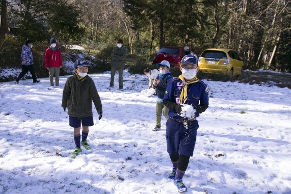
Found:
<svg viewBox="0 0 291 194"><path fill-rule="evenodd" d="M167 151L171 155L193 156L197 129L199 128L196 117L199 114L191 120L186 120L175 111L174 107L177 104L182 104L180 103L182 89L183 81L175 78L168 84L163 98L163 103L170 109L168 113L170 119L166 123ZM187 104L202 106L200 107L202 112L208 108L208 86L203 81L197 80L197 82L189 84L187 96Z"/></svg>

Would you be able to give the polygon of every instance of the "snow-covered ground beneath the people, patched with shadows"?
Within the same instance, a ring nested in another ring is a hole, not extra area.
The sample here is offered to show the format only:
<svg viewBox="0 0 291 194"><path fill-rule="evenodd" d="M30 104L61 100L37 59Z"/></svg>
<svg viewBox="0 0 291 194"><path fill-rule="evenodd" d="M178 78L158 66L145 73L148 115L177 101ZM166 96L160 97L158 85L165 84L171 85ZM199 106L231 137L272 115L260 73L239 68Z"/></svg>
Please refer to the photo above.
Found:
<svg viewBox="0 0 291 194"><path fill-rule="evenodd" d="M89 72L90 73L90 72ZM177 194L167 179L165 118L155 127L146 75L90 75L102 100L89 128L91 150L75 144L59 88L49 78L0 83L0 194ZM291 90L206 81L210 107L198 117L194 157L183 178L191 194L291 194ZM57 156L56 153L61 154Z"/></svg>

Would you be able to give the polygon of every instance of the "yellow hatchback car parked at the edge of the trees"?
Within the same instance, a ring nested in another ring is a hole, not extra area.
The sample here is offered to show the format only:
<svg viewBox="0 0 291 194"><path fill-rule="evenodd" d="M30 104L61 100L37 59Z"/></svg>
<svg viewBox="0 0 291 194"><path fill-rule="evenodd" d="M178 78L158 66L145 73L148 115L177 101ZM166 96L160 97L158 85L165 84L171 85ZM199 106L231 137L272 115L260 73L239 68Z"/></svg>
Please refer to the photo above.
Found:
<svg viewBox="0 0 291 194"><path fill-rule="evenodd" d="M206 49L198 59L198 66L202 72L224 73L229 77L243 71L242 58L233 49Z"/></svg>

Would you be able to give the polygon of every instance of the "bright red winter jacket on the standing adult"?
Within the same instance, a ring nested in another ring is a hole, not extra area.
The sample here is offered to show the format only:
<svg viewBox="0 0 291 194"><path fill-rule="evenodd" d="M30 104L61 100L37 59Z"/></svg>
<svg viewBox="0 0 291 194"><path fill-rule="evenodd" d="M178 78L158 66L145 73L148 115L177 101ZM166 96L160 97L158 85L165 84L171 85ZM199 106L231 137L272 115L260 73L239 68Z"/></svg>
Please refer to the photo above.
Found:
<svg viewBox="0 0 291 194"><path fill-rule="evenodd" d="M61 51L58 47L52 50L50 47L45 52L46 67L60 67L63 65Z"/></svg>

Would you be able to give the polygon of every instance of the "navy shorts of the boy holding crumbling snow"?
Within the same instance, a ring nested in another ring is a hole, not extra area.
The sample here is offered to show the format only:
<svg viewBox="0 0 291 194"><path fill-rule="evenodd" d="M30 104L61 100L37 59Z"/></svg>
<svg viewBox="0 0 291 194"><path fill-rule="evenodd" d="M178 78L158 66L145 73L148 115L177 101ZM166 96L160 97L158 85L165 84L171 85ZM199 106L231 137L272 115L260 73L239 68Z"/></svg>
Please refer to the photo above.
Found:
<svg viewBox="0 0 291 194"><path fill-rule="evenodd" d="M166 126L168 153L171 155L193 156L197 129L199 128L198 121L191 121L188 124L188 129L186 129L183 123L178 123L169 118Z"/></svg>

